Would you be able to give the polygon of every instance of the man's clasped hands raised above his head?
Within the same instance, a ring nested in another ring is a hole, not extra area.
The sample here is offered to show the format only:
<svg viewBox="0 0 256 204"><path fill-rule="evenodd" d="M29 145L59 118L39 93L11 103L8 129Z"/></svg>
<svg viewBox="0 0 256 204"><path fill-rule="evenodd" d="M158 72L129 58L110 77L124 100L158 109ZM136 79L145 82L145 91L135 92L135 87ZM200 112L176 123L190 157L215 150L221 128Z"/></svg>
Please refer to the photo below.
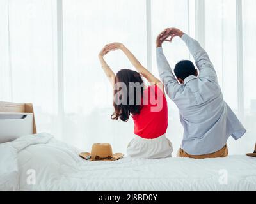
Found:
<svg viewBox="0 0 256 204"><path fill-rule="evenodd" d="M164 41L172 42L172 39L175 36L179 36L181 38L183 34L184 33L177 28L166 28L162 33L159 34L159 36L157 36L156 46L162 47Z"/></svg>

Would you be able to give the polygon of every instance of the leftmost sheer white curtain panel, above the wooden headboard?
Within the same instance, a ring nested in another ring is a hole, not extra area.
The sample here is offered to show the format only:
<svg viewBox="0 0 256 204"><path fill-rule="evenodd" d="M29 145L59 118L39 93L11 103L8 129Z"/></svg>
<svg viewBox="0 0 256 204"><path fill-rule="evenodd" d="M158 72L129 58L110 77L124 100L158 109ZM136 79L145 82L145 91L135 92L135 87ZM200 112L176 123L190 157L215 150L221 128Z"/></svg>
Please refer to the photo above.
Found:
<svg viewBox="0 0 256 204"><path fill-rule="evenodd" d="M0 100L33 102L38 129L56 133L56 2L1 0L0 10Z"/></svg>

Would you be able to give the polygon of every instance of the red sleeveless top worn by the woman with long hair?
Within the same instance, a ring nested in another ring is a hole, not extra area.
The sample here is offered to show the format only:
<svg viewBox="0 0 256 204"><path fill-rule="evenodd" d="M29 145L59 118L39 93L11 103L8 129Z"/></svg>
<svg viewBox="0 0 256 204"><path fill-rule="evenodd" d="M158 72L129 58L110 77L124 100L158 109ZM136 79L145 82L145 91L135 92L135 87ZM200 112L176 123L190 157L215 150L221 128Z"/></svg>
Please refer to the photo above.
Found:
<svg viewBox="0 0 256 204"><path fill-rule="evenodd" d="M132 115L134 134L141 138L154 139L164 133L168 126L168 106L166 98L158 85L144 90L140 114Z"/></svg>

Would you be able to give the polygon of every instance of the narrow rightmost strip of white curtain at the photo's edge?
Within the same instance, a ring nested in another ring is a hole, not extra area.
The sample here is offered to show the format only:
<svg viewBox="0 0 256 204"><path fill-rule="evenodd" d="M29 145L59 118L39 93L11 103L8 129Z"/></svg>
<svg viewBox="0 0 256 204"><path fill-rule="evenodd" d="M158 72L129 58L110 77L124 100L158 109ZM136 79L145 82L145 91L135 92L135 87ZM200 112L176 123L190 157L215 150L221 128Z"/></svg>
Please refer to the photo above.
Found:
<svg viewBox="0 0 256 204"><path fill-rule="evenodd" d="M250 143L256 142L256 26L253 23L256 20L255 10L256 1L243 1L244 125L248 133L242 140L243 145L237 145L237 149L248 149Z"/></svg>

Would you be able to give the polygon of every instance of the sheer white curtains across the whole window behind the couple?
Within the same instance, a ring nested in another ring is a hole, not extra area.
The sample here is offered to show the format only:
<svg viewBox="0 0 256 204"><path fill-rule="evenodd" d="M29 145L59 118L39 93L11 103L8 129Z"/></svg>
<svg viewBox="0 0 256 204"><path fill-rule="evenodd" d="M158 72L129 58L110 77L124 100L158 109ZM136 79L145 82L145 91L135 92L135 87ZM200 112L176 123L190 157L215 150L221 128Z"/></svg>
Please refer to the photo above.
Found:
<svg viewBox="0 0 256 204"><path fill-rule="evenodd" d="M61 14L57 8L61 2L63 29L58 30L57 15ZM225 100L238 114L237 79L241 76L237 75L236 1L204 3L205 49L218 72ZM95 142L109 142L115 152L125 152L133 137L133 122L110 119L113 93L97 54L106 43L120 41L158 75L154 43L157 34L166 27L179 27L195 37L195 15L202 12L195 5L195 0L0 0L0 100L32 102L38 131L50 132L76 147L88 151ZM238 142L228 141L231 154L250 152L255 142L255 9L254 0L243 0L241 120L248 133ZM63 38L62 50L58 49L58 36ZM172 67L181 59L191 59L179 39L166 43L164 50ZM58 64L58 52L63 54L63 67ZM106 61L115 72L133 69L119 51L110 53ZM58 97L60 92L63 101ZM179 111L170 99L168 106L167 136L177 151L182 126Z"/></svg>

